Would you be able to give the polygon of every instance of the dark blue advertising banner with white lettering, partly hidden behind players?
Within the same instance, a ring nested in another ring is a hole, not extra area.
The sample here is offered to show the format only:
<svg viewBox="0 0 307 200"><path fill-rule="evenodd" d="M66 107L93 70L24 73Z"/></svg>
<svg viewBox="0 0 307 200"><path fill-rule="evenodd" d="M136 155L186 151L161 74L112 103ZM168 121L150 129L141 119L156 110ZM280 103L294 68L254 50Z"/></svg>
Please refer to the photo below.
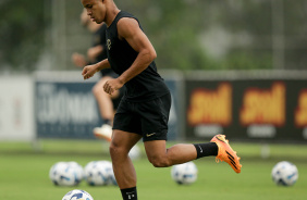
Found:
<svg viewBox="0 0 307 200"><path fill-rule="evenodd" d="M50 76L48 80L40 78L35 84L38 137L94 139L93 128L103 123L91 93L95 82L57 80L57 76L51 79ZM173 140L179 135L179 88L175 79L167 79L165 83L173 100L168 134L168 139Z"/></svg>

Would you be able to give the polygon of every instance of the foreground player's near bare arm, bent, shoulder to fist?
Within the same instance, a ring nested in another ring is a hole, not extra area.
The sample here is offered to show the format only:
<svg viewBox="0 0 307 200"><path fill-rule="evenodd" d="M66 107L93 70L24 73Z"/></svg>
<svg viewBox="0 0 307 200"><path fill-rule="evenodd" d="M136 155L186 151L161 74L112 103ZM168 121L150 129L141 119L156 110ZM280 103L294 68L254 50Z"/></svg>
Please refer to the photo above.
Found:
<svg viewBox="0 0 307 200"><path fill-rule="evenodd" d="M134 18L123 17L118 23L120 39L125 39L130 46L138 52L137 58L120 77L109 80L103 86L107 93L112 93L121 88L130 79L142 73L157 58L157 53L151 42L140 29L138 22Z"/></svg>

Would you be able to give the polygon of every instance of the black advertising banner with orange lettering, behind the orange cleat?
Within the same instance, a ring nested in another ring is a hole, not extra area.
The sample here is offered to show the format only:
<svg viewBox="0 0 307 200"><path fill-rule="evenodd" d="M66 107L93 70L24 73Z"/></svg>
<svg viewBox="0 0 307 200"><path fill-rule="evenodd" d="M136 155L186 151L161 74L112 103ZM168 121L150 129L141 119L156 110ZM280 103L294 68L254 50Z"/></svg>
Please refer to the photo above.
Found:
<svg viewBox="0 0 307 200"><path fill-rule="evenodd" d="M186 80L186 137L307 141L307 79Z"/></svg>

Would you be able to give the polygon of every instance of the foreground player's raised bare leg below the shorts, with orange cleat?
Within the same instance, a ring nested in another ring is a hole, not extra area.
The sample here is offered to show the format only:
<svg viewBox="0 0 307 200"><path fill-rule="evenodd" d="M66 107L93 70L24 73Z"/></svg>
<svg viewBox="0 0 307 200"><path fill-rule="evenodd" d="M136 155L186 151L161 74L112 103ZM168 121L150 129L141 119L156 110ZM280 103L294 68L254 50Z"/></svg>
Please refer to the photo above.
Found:
<svg viewBox="0 0 307 200"><path fill-rule="evenodd" d="M144 142L148 160L156 167L167 167L181 164L195 159L214 155L236 172L241 172L242 165L236 152L230 147L224 135L216 135L211 142L206 143L179 143L165 148L165 140L152 140Z"/></svg>

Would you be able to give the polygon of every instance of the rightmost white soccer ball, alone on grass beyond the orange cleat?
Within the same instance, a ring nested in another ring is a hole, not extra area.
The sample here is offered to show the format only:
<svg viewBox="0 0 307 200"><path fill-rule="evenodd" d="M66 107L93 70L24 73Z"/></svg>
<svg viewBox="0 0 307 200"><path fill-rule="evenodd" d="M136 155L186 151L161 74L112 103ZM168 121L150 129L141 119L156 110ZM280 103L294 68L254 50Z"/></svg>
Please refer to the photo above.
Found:
<svg viewBox="0 0 307 200"><path fill-rule="evenodd" d="M272 168L272 179L277 185L292 186L298 178L297 167L287 161L282 161L275 164Z"/></svg>

